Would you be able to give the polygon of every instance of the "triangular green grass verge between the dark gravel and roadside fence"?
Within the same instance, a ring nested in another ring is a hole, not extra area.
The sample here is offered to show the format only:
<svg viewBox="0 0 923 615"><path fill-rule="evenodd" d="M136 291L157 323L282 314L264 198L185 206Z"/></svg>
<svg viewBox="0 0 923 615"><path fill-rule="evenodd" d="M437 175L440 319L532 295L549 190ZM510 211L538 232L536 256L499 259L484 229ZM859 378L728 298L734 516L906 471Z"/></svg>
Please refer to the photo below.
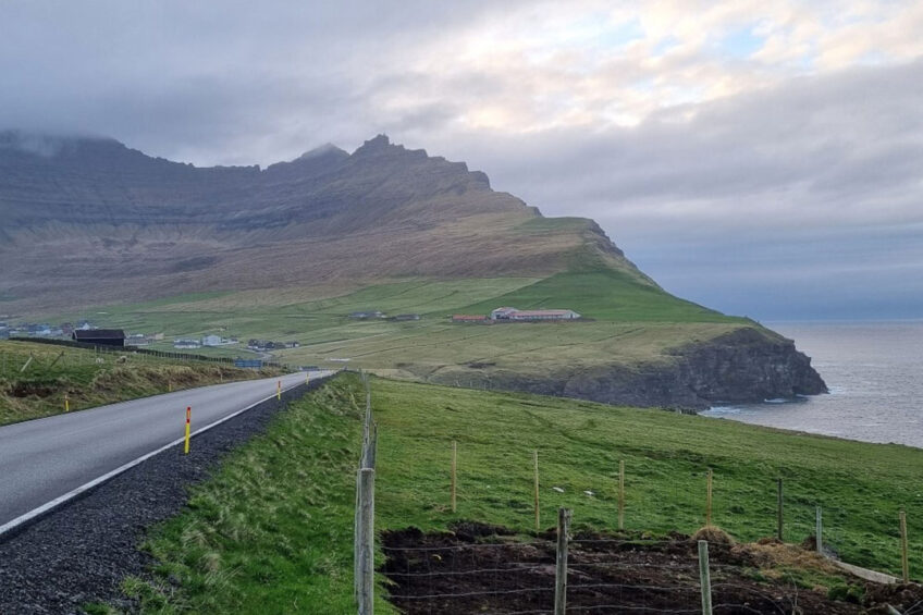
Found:
<svg viewBox="0 0 923 615"><path fill-rule="evenodd" d="M126 594L145 613L355 613L357 398L357 379L337 378L232 453L152 532L152 579Z"/></svg>

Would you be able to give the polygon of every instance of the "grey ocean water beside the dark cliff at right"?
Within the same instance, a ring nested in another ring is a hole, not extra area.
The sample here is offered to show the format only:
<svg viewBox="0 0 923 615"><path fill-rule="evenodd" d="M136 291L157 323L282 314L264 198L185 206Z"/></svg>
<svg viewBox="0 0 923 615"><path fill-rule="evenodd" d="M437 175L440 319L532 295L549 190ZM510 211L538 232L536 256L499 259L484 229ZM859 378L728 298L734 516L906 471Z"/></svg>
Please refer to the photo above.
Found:
<svg viewBox="0 0 923 615"><path fill-rule="evenodd" d="M764 324L812 358L829 394L716 406L703 416L923 448L923 320Z"/></svg>

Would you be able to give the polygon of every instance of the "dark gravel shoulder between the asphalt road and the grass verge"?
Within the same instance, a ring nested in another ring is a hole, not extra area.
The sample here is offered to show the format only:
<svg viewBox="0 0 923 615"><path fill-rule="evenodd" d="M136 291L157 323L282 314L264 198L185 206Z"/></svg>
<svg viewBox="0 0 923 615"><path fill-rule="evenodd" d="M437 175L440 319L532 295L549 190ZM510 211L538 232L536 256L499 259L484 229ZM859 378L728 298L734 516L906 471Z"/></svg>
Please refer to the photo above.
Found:
<svg viewBox="0 0 923 615"><path fill-rule="evenodd" d="M188 500L222 457L259 433L288 402L322 384L301 384L164 451L0 540L0 613L81 613L91 602L118 604L120 583L145 571L145 530ZM128 606L128 605L126 605Z"/></svg>

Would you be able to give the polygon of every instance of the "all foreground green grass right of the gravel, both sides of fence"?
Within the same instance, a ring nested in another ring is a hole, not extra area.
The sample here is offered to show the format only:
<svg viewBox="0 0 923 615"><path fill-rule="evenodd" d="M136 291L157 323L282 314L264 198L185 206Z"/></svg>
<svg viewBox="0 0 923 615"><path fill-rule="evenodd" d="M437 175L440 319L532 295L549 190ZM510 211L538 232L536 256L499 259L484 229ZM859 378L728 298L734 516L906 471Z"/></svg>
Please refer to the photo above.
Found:
<svg viewBox="0 0 923 615"><path fill-rule="evenodd" d="M923 451L536 395L380 378L371 386L379 530L444 531L477 520L528 534L538 451L543 529L554 526L558 506L568 506L576 528L614 530L624 459L627 528L692 532L704 524L705 472L712 468L713 521L737 540L773 536L780 476L789 542L812 534L814 505L821 504L825 541L844 559L897 573L898 509L906 507L911 570L916 578L923 570L923 502L915 489ZM143 611L353 612L362 395L355 376L334 379L194 488L189 508L146 543L156 562L152 577L124 585ZM453 440L456 514L448 506ZM812 587L829 581L810 570L785 571ZM392 613L381 594L380 612Z"/></svg>

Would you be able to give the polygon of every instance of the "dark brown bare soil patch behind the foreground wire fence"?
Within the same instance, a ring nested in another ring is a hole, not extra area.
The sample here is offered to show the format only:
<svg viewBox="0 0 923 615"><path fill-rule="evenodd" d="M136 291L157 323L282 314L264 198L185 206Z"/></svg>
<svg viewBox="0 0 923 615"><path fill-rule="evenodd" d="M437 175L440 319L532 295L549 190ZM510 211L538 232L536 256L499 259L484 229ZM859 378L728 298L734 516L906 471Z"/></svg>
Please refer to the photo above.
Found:
<svg viewBox="0 0 923 615"><path fill-rule="evenodd" d="M478 524L454 530L384 533L382 571L402 613L553 612L553 532L521 541L503 528ZM842 587L854 588L851 602L832 599L826 588L803 587L768 565L777 557L830 574L815 555L792 556L792 550L798 548L710 543L714 613L887 613L886 604L902 613L923 599L920 586L865 587L846 577L849 585ZM577 534L569 546L567 582L568 613L701 613L698 543L688 536L654 541L637 534Z"/></svg>

